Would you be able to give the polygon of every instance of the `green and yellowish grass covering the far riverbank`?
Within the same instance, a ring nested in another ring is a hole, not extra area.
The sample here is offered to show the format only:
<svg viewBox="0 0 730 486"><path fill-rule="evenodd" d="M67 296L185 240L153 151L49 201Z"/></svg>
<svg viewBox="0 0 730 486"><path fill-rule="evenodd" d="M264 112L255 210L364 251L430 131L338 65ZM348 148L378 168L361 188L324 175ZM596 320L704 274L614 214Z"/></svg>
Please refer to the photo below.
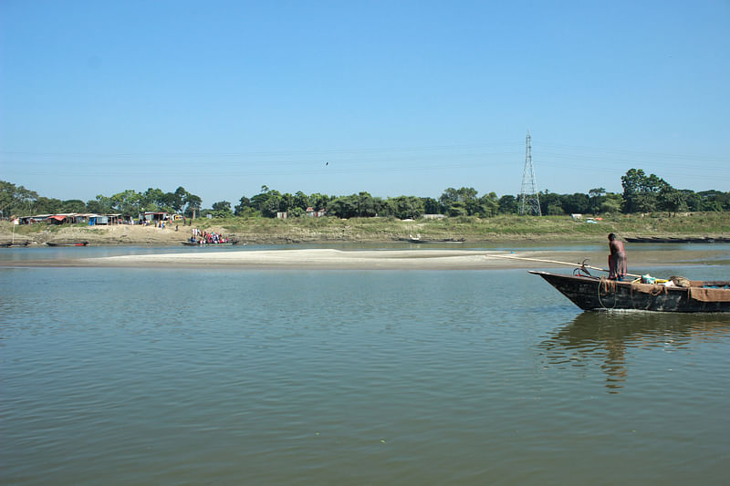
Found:
<svg viewBox="0 0 730 486"><path fill-rule="evenodd" d="M188 220L190 221L190 220ZM572 220L569 216L499 215L493 218L457 217L440 220L401 221L395 218L225 218L197 219L193 226L202 231L219 231L241 235L254 241L266 237L279 241L393 241L409 235L422 239L465 238L467 241L506 239L584 240L605 238L608 233L626 236L721 236L730 234L730 212L695 212L669 217L666 213L605 215L600 222ZM45 223L20 225L0 222L5 235L58 233L73 227L83 233L104 233L101 227L50 225ZM183 227L181 226L181 230Z"/></svg>

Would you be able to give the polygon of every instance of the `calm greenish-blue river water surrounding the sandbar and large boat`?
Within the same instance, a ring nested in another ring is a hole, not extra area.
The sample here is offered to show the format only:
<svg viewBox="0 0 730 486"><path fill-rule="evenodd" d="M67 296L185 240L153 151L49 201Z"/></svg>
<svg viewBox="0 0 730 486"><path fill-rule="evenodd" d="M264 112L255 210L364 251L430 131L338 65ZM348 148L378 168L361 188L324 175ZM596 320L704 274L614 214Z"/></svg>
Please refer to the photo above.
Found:
<svg viewBox="0 0 730 486"><path fill-rule="evenodd" d="M5 267L0 482L726 484L728 370L525 270Z"/></svg>

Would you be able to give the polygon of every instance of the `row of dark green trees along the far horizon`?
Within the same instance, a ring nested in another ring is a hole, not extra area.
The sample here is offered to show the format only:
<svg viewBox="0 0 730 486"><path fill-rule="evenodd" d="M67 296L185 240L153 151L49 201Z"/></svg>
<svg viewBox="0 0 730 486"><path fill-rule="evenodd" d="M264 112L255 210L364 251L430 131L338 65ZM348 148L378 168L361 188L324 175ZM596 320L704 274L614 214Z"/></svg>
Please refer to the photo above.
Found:
<svg viewBox="0 0 730 486"><path fill-rule="evenodd" d="M730 192L680 190L673 188L662 178L646 175L641 169L631 169L621 176L621 193L595 188L588 193L558 194L550 191L538 193L542 214L603 214L634 212L725 212L730 211ZM214 202L203 209L199 196L178 187L173 192L149 188L147 191L122 191L110 197L98 195L83 202L78 199L61 201L39 196L23 186L0 181L0 216L26 216L41 213L94 212L98 214L121 213L135 218L145 211L164 211L187 216L211 214L214 217L265 217L274 218L279 212L287 217L304 215L309 208L326 211L328 216L339 218L392 216L398 219L416 219L423 214L447 216L478 216L488 218L497 214L517 214L519 195L498 197L495 192L479 196L474 188L448 188L438 199L431 197L398 196L380 198L362 191L349 196L327 194L282 193L266 185L252 197L242 196L238 204Z"/></svg>

